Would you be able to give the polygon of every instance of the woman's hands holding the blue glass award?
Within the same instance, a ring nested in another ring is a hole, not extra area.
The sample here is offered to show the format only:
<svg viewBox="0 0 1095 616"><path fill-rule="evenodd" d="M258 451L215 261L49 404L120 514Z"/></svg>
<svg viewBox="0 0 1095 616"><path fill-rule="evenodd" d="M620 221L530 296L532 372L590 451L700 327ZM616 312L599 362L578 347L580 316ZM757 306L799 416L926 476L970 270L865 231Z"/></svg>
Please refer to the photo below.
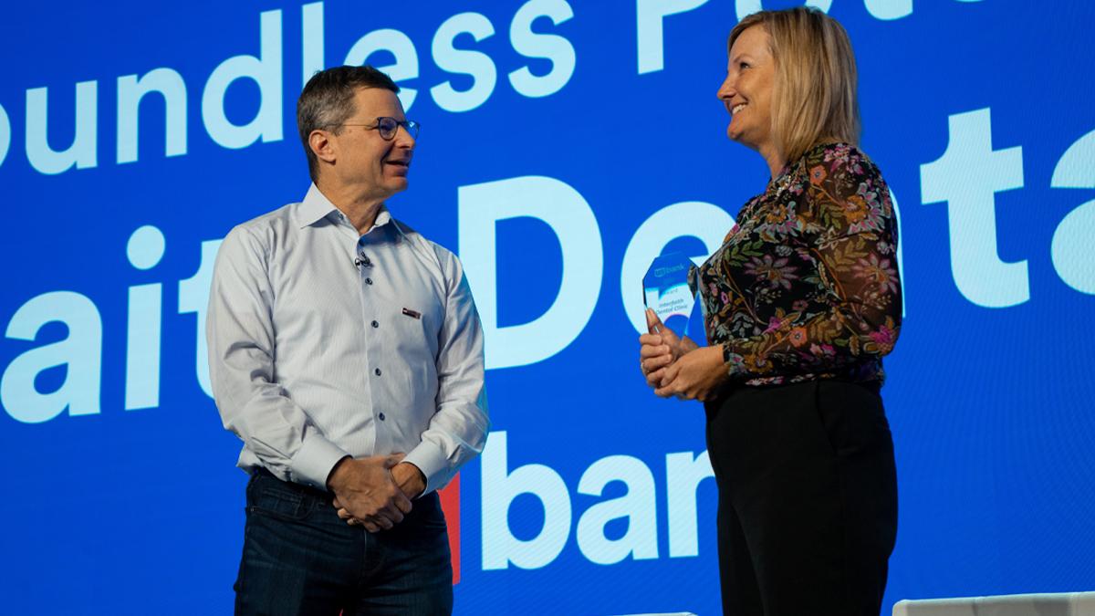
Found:
<svg viewBox="0 0 1095 616"><path fill-rule="evenodd" d="M649 333L638 336L638 363L646 384L662 398L712 400L728 379L721 345L700 347L679 338L654 310L646 309Z"/></svg>

